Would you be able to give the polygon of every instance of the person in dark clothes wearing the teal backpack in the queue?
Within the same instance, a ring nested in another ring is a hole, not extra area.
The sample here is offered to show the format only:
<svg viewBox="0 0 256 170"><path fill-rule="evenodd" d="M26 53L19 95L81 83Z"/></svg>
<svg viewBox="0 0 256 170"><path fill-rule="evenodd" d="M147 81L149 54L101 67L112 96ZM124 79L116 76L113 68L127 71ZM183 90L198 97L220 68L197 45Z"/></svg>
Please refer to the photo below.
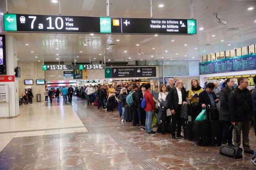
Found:
<svg viewBox="0 0 256 170"><path fill-rule="evenodd" d="M132 125L136 126L139 124L139 117L138 117L138 86L133 85L132 90L130 93L132 93L132 100L134 101L134 104L132 105Z"/></svg>

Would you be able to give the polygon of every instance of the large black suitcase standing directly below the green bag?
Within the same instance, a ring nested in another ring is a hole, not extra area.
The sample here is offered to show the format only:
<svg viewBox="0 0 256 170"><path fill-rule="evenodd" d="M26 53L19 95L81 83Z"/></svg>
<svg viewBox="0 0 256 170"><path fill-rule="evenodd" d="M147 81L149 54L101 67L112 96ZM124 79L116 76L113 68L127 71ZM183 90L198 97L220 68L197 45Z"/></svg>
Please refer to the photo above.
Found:
<svg viewBox="0 0 256 170"><path fill-rule="evenodd" d="M209 145L211 143L209 120L193 122L193 140L195 140L197 144L203 146Z"/></svg>

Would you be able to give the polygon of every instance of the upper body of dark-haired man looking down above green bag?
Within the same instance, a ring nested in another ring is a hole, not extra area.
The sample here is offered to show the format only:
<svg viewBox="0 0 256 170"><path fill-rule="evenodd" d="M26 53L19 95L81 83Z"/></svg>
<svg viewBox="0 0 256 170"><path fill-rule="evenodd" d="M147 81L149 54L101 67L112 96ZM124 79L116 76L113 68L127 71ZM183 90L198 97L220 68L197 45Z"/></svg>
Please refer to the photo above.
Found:
<svg viewBox="0 0 256 170"><path fill-rule="evenodd" d="M219 102L215 93L213 92L215 85L213 83L208 83L206 89L199 94L198 105L202 108L210 105L210 107L216 107L216 103Z"/></svg>

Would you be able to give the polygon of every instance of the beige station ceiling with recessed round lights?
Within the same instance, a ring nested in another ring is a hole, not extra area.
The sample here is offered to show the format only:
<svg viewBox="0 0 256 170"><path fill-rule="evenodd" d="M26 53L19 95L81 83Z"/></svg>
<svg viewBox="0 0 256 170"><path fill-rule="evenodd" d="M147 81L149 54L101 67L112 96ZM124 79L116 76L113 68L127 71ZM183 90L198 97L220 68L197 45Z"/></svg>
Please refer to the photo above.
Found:
<svg viewBox="0 0 256 170"><path fill-rule="evenodd" d="M59 2L52 3L51 0L7 1L9 13L34 15L60 13ZM109 1L110 17L150 18L150 0ZM191 18L191 0L152 0L152 2L153 18ZM158 7L159 4L164 4L164 7ZM4 32L3 15L0 15L0 34L12 35L16 38L19 61L35 62L38 60L56 62L58 61L56 58L60 58L61 62L64 60L89 62L89 58L91 61L104 61L104 56L106 62L108 60L121 62L123 59L202 61L202 55L205 54L256 44L256 0L193 0L193 7L194 19L197 20L196 35ZM248 10L249 7L254 9ZM6 0L1 0L0 13L6 12ZM217 16L227 24L218 23L214 13L217 13ZM106 0L61 0L61 15L106 17ZM200 28L204 29L200 30ZM229 31L229 28L238 28L238 30ZM120 41L116 41L117 39ZM59 54L59 57L56 54Z"/></svg>

